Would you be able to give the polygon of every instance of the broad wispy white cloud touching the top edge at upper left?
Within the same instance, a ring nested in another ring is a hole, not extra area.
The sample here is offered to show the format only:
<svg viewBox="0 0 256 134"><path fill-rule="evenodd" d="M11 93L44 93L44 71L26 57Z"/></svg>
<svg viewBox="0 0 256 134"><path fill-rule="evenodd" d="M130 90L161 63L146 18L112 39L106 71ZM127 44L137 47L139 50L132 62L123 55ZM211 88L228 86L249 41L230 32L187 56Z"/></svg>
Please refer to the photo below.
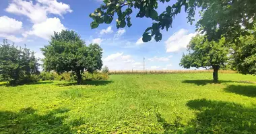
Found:
<svg viewBox="0 0 256 134"><path fill-rule="evenodd" d="M13 0L5 11L25 15L32 23L46 21L50 13L62 16L62 14L72 12L69 5L56 0L37 0L35 4L32 1Z"/></svg>

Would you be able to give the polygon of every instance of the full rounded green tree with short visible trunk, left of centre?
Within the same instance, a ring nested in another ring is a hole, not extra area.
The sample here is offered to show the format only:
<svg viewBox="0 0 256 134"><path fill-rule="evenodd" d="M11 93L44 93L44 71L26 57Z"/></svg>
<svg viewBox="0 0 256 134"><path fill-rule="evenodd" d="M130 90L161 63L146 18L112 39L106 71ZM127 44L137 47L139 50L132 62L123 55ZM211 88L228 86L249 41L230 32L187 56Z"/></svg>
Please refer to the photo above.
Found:
<svg viewBox="0 0 256 134"><path fill-rule="evenodd" d="M102 48L98 44L86 46L75 31L55 32L49 45L41 50L45 57L44 70L73 71L77 75L77 84L82 83L84 70L92 73L102 67Z"/></svg>

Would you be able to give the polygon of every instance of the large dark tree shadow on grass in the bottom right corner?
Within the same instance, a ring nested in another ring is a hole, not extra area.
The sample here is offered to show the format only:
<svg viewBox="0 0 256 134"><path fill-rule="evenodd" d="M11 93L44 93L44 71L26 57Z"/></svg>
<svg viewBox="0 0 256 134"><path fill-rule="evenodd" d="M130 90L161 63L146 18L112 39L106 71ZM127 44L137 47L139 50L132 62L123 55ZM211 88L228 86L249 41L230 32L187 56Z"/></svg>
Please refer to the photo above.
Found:
<svg viewBox="0 0 256 134"><path fill-rule="evenodd" d="M187 106L198 110L189 131L195 133L256 133L256 109L236 103L197 99Z"/></svg>

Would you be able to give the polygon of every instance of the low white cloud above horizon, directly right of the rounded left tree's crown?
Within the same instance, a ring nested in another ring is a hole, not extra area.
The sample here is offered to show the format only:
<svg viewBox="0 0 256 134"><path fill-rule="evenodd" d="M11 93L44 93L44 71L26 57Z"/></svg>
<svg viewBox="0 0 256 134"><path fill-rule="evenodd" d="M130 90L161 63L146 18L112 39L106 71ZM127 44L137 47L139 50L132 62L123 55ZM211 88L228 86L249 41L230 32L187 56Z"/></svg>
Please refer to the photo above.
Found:
<svg viewBox="0 0 256 134"><path fill-rule="evenodd" d="M103 59L104 66L110 70L142 70L143 64L135 62L131 55L124 55L123 52L110 54Z"/></svg>

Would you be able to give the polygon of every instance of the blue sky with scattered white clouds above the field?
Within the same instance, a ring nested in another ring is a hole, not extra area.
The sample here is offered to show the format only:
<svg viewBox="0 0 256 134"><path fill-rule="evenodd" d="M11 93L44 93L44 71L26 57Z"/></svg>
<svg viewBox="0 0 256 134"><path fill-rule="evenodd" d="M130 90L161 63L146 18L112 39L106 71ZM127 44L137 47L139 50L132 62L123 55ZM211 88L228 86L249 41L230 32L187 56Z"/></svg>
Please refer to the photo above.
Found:
<svg viewBox="0 0 256 134"><path fill-rule="evenodd" d="M172 1L174 3L175 1ZM142 70L145 57L147 70L181 70L179 62L189 40L195 36L195 25L187 23L182 11L175 17L172 28L162 30L162 40L143 43L143 31L152 25L151 19L131 18L132 26L123 29L102 24L90 28L89 17L100 6L100 0L1 0L0 40L8 39L17 46L24 46L43 58L40 48L48 44L53 31L72 29L86 44L98 43L103 48L103 63L110 70ZM172 3L158 6L159 13ZM198 16L195 17L198 19Z"/></svg>

